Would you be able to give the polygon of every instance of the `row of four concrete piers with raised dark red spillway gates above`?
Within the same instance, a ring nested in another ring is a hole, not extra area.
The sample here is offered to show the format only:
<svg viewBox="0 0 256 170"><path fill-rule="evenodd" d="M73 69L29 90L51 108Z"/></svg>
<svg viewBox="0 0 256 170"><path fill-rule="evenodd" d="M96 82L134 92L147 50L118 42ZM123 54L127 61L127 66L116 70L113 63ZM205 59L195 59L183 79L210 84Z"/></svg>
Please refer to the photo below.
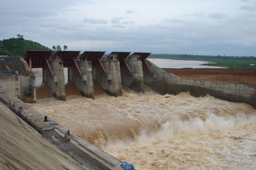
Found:
<svg viewBox="0 0 256 170"><path fill-rule="evenodd" d="M42 68L43 82L59 100L66 100L63 68L68 68L68 82L76 84L84 97L94 98L93 81L99 82L111 96L122 96L122 84L134 91L144 93L143 69L138 54L112 52L102 58L105 52L28 50L25 60L29 68ZM150 54L150 53L148 53ZM126 58L129 59L126 60ZM120 65L121 63L121 65Z"/></svg>

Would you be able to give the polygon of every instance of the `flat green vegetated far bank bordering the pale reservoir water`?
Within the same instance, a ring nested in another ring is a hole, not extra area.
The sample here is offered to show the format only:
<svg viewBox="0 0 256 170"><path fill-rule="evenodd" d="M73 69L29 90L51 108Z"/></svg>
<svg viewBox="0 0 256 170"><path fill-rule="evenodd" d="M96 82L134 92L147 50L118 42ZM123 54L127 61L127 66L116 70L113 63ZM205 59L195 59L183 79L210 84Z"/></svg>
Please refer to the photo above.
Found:
<svg viewBox="0 0 256 170"><path fill-rule="evenodd" d="M250 56L200 56L190 54L150 54L149 58L208 61L204 65L227 68L256 68L256 57Z"/></svg>

